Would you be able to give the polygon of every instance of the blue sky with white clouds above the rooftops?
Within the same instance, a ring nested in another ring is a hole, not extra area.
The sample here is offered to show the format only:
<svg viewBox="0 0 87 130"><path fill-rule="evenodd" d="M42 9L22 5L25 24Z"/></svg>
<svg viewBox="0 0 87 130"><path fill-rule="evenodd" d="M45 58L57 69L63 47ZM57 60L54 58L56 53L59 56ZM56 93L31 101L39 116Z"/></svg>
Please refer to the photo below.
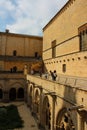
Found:
<svg viewBox="0 0 87 130"><path fill-rule="evenodd" d="M0 0L0 32L43 35L43 28L68 0Z"/></svg>

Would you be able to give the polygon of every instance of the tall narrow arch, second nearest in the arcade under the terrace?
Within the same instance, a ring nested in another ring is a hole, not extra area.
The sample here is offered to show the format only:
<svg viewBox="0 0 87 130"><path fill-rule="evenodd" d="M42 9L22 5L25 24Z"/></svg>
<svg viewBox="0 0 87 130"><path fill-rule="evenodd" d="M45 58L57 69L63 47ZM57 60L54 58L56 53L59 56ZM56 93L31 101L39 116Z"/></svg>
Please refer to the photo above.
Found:
<svg viewBox="0 0 87 130"><path fill-rule="evenodd" d="M45 126L46 129L51 129L51 110L48 96L45 96L43 99L42 105L42 125Z"/></svg>

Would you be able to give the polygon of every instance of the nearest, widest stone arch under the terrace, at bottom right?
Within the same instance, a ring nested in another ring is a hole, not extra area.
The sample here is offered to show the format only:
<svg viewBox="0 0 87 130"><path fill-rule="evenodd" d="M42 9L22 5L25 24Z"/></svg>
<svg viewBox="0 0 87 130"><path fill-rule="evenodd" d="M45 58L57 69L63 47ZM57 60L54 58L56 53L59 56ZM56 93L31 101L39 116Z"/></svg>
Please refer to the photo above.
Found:
<svg viewBox="0 0 87 130"><path fill-rule="evenodd" d="M75 130L73 120L66 108L61 109L57 114L56 130Z"/></svg>

